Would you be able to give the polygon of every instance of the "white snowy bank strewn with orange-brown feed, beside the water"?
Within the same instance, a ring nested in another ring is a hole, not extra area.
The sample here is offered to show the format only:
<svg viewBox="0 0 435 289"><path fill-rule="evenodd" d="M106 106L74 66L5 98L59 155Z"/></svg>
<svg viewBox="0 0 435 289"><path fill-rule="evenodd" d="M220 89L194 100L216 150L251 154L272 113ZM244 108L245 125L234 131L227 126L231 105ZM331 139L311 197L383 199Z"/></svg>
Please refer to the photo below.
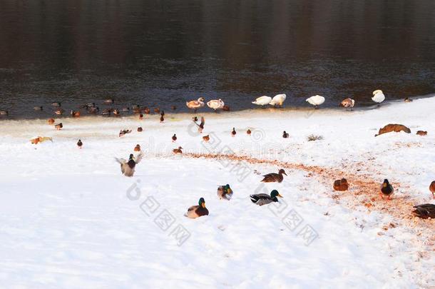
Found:
<svg viewBox="0 0 435 289"><path fill-rule="evenodd" d="M63 118L61 131L0 121L1 287L434 288L435 223L411 216L435 203L434 107L435 97L369 111L197 113L201 135L190 114ZM411 133L375 138L388 123ZM133 132L119 138L123 128ZM136 144L145 158L126 178L114 157ZM260 183L279 168L282 183ZM342 177L350 190L334 192ZM377 191L384 178L391 201ZM225 183L229 202L216 196ZM272 189L279 205L250 202ZM200 197L210 215L185 218Z"/></svg>

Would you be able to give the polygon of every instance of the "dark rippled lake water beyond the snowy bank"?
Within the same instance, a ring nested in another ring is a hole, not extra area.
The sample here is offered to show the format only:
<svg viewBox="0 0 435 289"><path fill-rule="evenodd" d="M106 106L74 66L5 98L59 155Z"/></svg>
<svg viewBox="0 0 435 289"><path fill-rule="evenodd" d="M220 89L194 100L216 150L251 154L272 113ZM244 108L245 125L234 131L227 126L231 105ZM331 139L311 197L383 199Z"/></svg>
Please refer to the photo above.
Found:
<svg viewBox="0 0 435 289"><path fill-rule="evenodd" d="M1 0L0 109L52 115L114 98L232 110L286 93L285 106L372 104L435 92L435 1ZM44 106L36 112L34 106Z"/></svg>

